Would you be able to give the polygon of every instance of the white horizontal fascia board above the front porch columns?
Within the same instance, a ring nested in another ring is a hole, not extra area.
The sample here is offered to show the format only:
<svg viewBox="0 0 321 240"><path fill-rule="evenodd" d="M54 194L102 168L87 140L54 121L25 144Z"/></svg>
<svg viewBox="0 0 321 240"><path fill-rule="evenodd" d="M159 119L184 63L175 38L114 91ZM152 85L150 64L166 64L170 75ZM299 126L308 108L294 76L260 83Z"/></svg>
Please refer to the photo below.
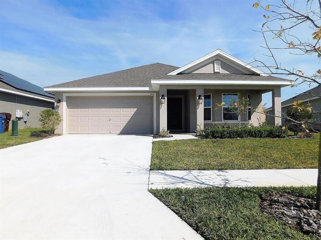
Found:
<svg viewBox="0 0 321 240"><path fill-rule="evenodd" d="M254 81L254 80L151 80L153 84L158 85L275 85L288 86L292 85L290 81Z"/></svg>

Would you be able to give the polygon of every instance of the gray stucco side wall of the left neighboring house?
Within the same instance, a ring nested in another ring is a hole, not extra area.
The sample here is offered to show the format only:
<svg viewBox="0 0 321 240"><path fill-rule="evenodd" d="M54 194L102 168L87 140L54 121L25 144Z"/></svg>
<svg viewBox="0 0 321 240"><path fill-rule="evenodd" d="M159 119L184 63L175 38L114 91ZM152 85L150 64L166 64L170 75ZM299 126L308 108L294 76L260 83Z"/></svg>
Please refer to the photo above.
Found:
<svg viewBox="0 0 321 240"><path fill-rule="evenodd" d="M16 110L22 110L23 113L27 113L28 109L30 110L27 124L21 119L18 121L19 128L24 128L26 126L40 127L38 121L40 111L52 108L53 105L54 103L49 101L0 92L0 112L12 114L11 119L15 119ZM11 127L11 122L9 127Z"/></svg>

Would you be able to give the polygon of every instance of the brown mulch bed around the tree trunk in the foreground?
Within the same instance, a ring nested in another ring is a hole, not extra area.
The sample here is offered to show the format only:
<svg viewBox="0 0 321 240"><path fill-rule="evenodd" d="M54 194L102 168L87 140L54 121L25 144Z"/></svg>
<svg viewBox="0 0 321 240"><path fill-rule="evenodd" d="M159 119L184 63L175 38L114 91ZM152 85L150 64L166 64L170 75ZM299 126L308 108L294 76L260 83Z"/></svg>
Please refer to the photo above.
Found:
<svg viewBox="0 0 321 240"><path fill-rule="evenodd" d="M265 194L260 203L264 214L272 215L306 235L314 235L321 239L321 212L314 209L315 205L315 199L284 192Z"/></svg>

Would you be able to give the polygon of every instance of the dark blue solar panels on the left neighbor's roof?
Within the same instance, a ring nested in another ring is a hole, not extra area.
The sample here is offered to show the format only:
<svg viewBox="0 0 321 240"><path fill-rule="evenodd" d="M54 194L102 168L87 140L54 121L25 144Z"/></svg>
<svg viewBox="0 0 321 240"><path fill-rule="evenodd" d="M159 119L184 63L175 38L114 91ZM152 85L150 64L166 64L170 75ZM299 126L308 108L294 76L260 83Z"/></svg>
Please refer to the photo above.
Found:
<svg viewBox="0 0 321 240"><path fill-rule="evenodd" d="M26 92L32 92L36 93L39 95L47 96L47 97L53 97L53 95L49 94L48 92L43 91L42 87L39 87L35 84L32 84L24 79L21 79L17 76L14 76L10 73L4 72L0 70L0 80L3 81L4 83L22 90Z"/></svg>

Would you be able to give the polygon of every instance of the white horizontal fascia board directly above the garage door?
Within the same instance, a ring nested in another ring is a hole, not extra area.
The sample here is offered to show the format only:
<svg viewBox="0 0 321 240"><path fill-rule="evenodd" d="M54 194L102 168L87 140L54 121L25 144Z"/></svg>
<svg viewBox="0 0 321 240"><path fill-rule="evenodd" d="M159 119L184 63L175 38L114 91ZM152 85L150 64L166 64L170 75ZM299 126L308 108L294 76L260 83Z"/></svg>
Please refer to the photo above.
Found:
<svg viewBox="0 0 321 240"><path fill-rule="evenodd" d="M152 91L151 87L46 87L49 92Z"/></svg>

